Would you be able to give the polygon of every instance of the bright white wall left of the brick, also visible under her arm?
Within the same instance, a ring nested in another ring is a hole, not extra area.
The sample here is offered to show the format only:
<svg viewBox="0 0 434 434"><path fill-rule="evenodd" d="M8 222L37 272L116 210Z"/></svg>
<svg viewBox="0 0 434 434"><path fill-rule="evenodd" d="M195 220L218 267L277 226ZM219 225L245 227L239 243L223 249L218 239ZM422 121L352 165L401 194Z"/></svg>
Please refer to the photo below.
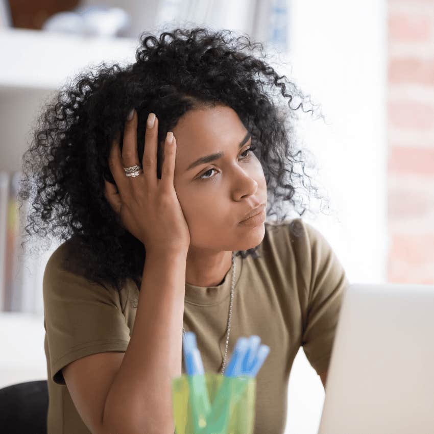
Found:
<svg viewBox="0 0 434 434"><path fill-rule="evenodd" d="M317 158L316 179L334 212L305 220L327 237L351 283L385 282L385 2L292 0L290 17L288 78L322 105L330 124L300 114L307 119L300 130L304 145ZM300 350L290 377L285 434L318 430L325 395L306 363Z"/></svg>

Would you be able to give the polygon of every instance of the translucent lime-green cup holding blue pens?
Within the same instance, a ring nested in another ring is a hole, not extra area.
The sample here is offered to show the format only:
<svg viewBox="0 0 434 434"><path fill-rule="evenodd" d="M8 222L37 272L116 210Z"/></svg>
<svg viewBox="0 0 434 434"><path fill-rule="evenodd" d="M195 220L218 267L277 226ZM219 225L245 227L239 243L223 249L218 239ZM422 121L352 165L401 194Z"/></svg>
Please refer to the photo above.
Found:
<svg viewBox="0 0 434 434"><path fill-rule="evenodd" d="M210 409L207 415L198 411L201 406L194 402L190 393L198 381L205 381L208 391ZM176 434L253 434L255 401L255 377L226 377L205 372L172 379Z"/></svg>

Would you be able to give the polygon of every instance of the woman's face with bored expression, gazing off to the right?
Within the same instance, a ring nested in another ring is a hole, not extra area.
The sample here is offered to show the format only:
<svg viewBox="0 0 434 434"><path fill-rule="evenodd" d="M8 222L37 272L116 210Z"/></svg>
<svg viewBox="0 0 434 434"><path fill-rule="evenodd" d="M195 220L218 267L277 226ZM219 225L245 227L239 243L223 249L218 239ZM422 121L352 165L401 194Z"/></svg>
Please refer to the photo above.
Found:
<svg viewBox="0 0 434 434"><path fill-rule="evenodd" d="M259 245L264 223L239 222L252 208L267 204L267 184L259 160L247 151L251 138L236 112L226 106L190 110L173 133L177 143L174 186L191 247L234 251ZM215 160L195 164L201 157L220 152Z"/></svg>

